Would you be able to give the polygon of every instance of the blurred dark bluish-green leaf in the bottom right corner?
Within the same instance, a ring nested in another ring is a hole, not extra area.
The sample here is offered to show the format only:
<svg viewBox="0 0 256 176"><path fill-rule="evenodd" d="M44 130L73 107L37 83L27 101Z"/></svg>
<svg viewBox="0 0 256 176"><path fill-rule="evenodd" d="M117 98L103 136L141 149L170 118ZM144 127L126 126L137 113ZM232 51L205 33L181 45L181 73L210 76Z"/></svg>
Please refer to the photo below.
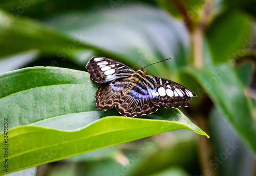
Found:
<svg viewBox="0 0 256 176"><path fill-rule="evenodd" d="M221 160L222 163L219 164L219 174L233 175L234 173L243 172L243 175L249 175L253 166L248 167L247 162L244 161L252 161L253 153L251 153L248 147L245 146L244 142L239 139L238 135L215 107L212 107L209 118L211 133L215 134L215 137L212 137L212 143L216 149L216 156L223 155L223 151L227 148L231 150L230 153L226 153L228 155L227 159ZM238 157L239 160L237 159ZM230 165L230 163L236 164ZM248 167L246 171L244 170L245 167Z"/></svg>

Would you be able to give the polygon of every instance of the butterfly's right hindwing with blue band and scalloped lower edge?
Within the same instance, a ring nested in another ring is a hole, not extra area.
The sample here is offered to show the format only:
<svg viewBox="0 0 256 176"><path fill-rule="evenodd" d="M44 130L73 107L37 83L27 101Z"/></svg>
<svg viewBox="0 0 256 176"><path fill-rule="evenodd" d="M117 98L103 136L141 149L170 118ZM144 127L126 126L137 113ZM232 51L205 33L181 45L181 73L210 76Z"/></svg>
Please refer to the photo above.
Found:
<svg viewBox="0 0 256 176"><path fill-rule="evenodd" d="M116 104L116 110L127 117L151 114L156 112L158 108L151 102L146 85L142 80L139 80L130 92L121 95Z"/></svg>

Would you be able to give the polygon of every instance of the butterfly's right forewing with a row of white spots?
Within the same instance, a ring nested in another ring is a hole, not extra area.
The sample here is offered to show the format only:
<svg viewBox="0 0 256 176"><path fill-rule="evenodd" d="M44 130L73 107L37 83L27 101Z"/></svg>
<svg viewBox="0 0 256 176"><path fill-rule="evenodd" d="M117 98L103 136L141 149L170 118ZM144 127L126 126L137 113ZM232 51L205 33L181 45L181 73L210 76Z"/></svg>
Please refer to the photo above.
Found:
<svg viewBox="0 0 256 176"><path fill-rule="evenodd" d="M189 107L191 97L197 96L173 81L150 75L145 75L144 78L152 103L161 108Z"/></svg>

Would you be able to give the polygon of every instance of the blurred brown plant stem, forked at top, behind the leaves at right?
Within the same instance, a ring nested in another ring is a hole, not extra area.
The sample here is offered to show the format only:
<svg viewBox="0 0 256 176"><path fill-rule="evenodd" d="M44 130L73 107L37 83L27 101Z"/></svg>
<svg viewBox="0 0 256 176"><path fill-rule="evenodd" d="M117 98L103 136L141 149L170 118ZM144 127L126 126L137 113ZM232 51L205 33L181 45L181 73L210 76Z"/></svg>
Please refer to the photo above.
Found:
<svg viewBox="0 0 256 176"><path fill-rule="evenodd" d="M177 9L180 11L181 15L184 17L185 25L190 33L190 42L193 52L193 65L196 68L203 67L203 38L205 28L207 27L210 21L210 9L211 9L211 0L205 0L205 4L202 7L202 14L199 21L189 18L188 10L186 6L179 0L173 0ZM206 115L196 114L194 116L195 120L198 122L199 127L203 131L209 133L209 119ZM217 176L218 172L215 168L210 166L210 160L214 157L215 154L214 146L211 143L211 140L206 139L205 137L200 136L199 140L199 157L202 166L202 174L211 176Z"/></svg>

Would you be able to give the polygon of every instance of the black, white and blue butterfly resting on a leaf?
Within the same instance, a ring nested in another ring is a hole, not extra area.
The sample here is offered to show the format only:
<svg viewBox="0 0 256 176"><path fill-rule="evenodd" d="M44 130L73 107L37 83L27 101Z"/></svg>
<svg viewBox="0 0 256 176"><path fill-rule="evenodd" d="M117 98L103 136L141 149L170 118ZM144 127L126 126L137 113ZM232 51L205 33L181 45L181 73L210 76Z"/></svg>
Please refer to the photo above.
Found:
<svg viewBox="0 0 256 176"><path fill-rule="evenodd" d="M189 107L191 90L173 81L146 75L145 67L138 71L104 57L92 57L86 69L90 78L102 83L95 99L96 108L116 110L126 117L142 116L161 108Z"/></svg>

